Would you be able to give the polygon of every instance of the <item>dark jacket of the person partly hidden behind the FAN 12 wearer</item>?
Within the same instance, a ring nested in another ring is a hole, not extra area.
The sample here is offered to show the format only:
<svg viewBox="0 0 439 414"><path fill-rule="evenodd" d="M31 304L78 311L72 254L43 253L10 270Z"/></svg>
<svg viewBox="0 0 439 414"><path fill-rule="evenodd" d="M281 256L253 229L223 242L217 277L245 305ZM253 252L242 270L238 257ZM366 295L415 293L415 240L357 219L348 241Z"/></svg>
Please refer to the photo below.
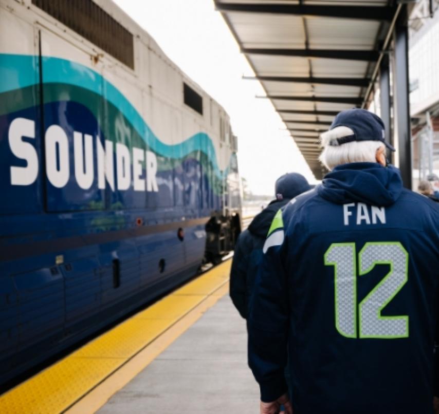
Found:
<svg viewBox="0 0 439 414"><path fill-rule="evenodd" d="M278 210L288 202L289 200L271 201L236 240L230 270L230 298L244 319L247 319L254 279L262 260L262 248L271 222Z"/></svg>

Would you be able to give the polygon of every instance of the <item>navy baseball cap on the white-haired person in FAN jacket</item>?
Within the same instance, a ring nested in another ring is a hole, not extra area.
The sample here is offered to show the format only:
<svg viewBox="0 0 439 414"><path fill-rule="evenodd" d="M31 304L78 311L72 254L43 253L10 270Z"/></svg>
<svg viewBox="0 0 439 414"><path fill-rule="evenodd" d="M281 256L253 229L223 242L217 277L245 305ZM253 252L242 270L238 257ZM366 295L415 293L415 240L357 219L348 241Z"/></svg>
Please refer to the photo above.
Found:
<svg viewBox="0 0 439 414"><path fill-rule="evenodd" d="M337 126L347 126L353 135L332 139L330 145L342 145L352 141L380 141L391 151L395 148L384 140L384 123L381 118L367 109L346 109L337 114L330 130Z"/></svg>

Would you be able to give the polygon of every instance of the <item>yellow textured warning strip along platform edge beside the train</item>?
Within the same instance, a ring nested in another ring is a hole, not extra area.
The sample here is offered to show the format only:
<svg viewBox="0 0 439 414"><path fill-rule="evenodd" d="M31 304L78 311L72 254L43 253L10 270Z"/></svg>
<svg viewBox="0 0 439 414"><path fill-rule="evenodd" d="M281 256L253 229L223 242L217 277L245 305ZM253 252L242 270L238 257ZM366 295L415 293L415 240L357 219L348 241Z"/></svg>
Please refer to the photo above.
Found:
<svg viewBox="0 0 439 414"><path fill-rule="evenodd" d="M0 396L2 414L95 412L228 291L230 260Z"/></svg>

